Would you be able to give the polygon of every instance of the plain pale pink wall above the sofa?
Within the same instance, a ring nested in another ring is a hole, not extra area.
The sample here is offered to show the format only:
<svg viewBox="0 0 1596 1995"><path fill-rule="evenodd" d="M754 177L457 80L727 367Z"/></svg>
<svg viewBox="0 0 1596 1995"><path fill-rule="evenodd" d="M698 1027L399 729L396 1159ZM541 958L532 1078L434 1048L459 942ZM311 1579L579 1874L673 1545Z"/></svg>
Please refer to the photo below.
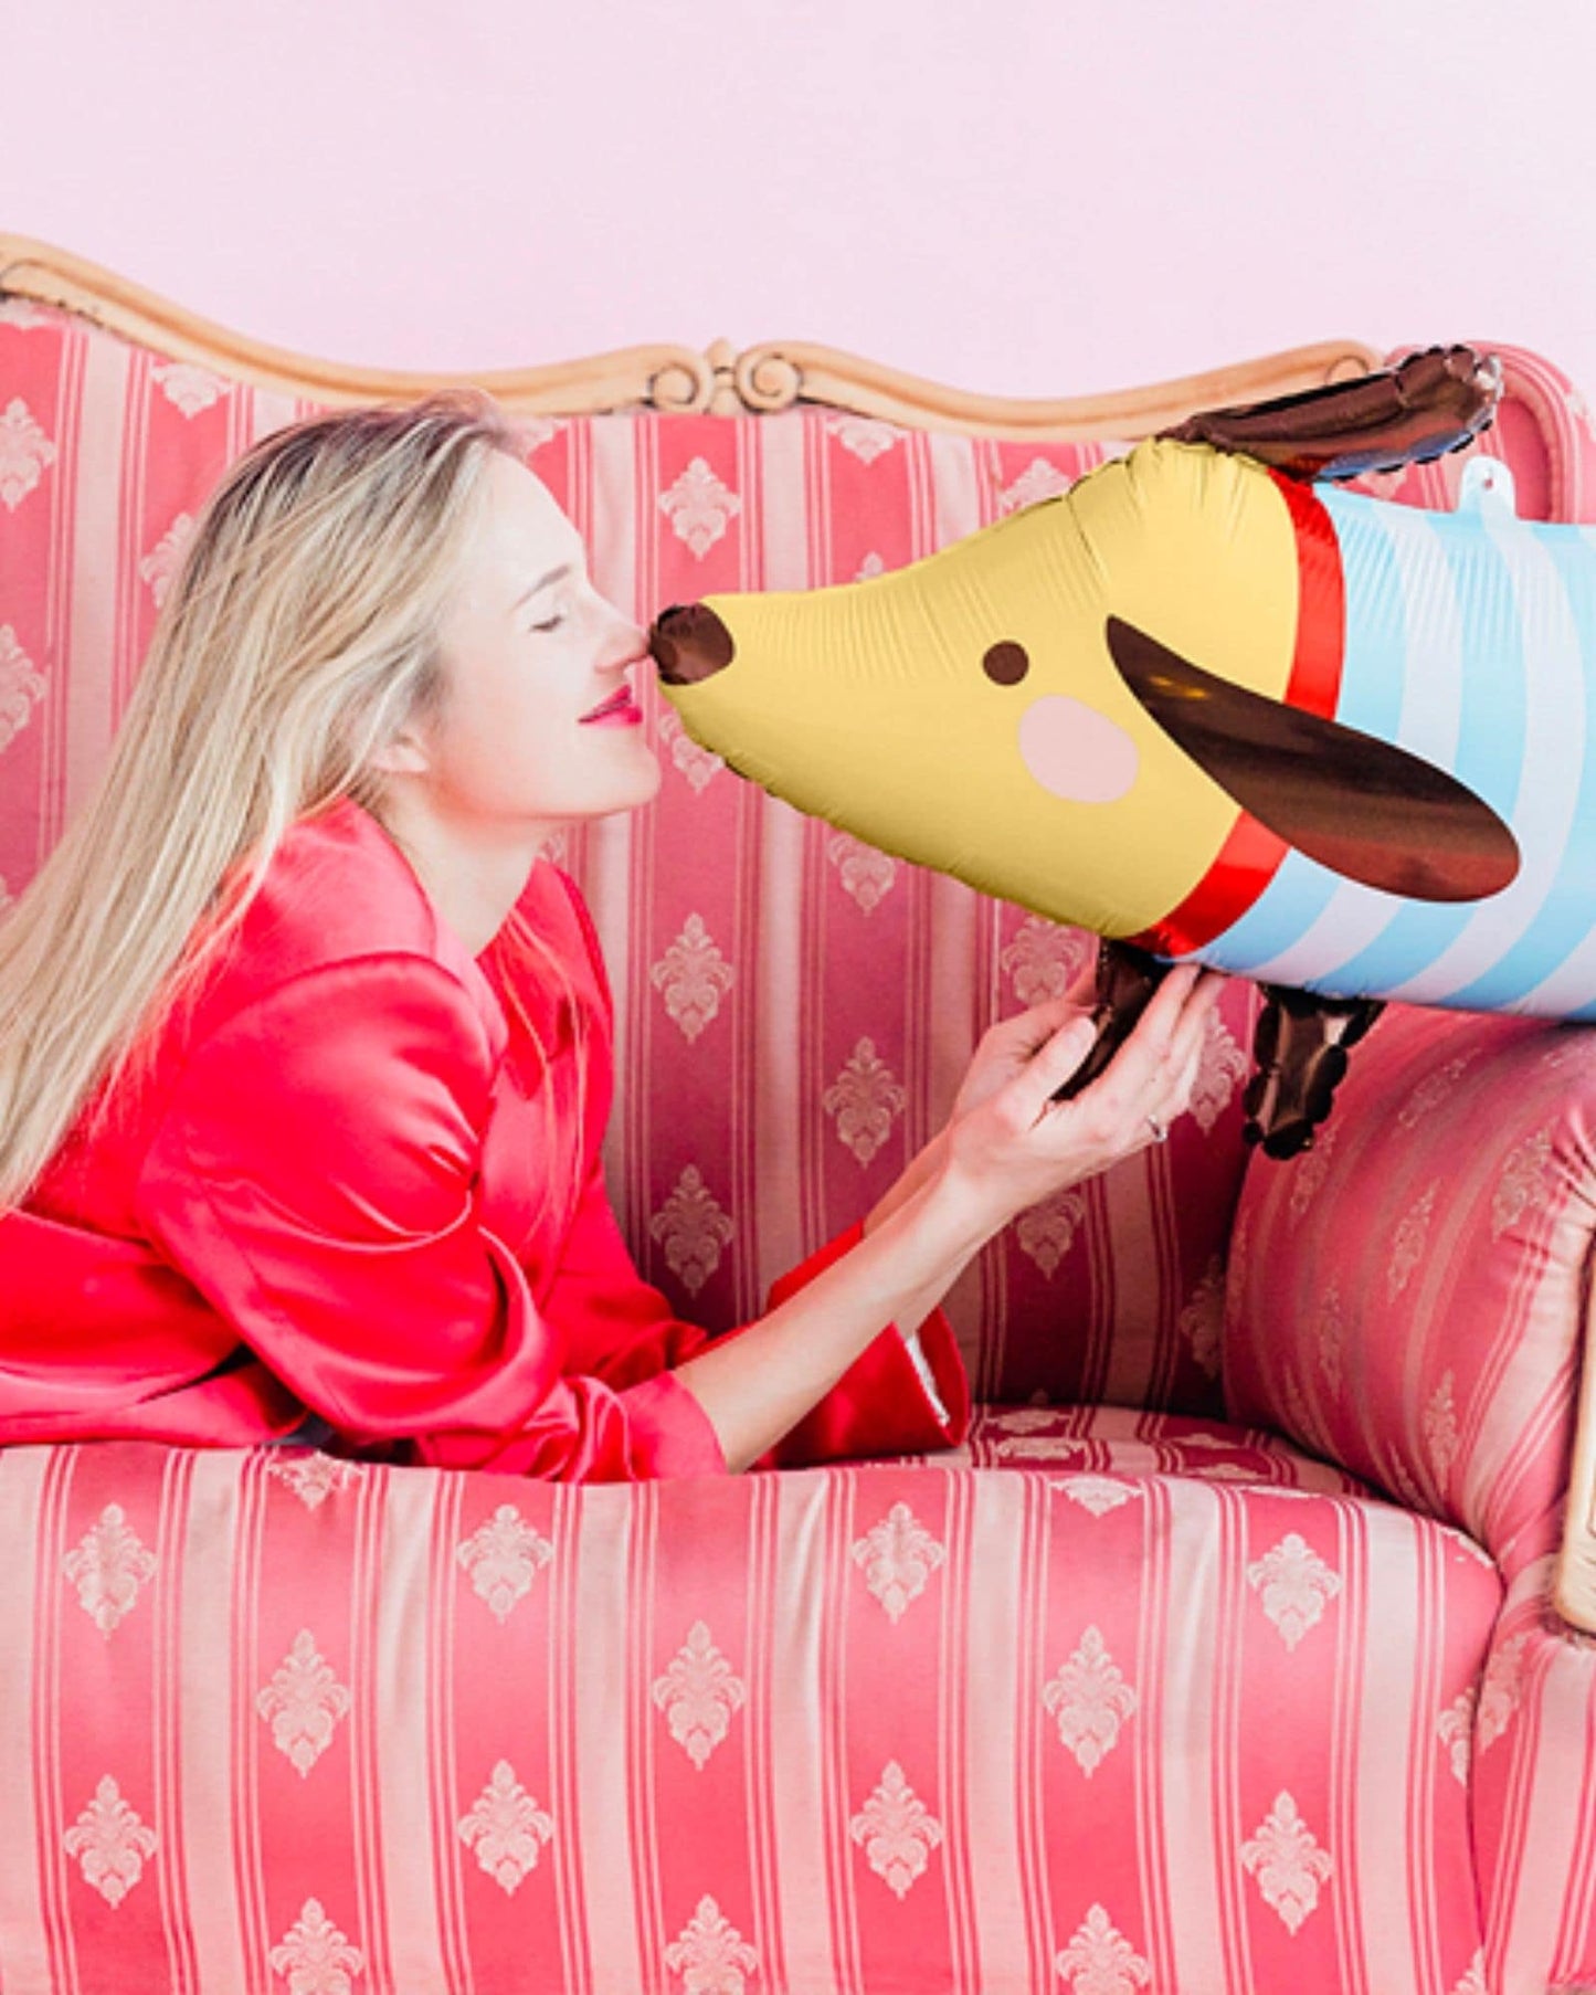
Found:
<svg viewBox="0 0 1596 1995"><path fill-rule="evenodd" d="M0 229L401 367L1474 335L1596 389L1594 56L1590 0L0 0Z"/></svg>

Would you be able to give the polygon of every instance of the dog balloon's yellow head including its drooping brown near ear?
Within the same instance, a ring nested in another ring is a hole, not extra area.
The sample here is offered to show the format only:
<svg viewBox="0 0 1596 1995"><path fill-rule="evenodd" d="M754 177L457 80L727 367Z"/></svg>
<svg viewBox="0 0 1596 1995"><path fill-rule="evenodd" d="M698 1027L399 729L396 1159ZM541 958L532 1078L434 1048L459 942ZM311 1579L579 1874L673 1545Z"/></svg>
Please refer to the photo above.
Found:
<svg viewBox="0 0 1596 1995"><path fill-rule="evenodd" d="M1243 808L1371 886L1494 892L1516 868L1494 812L1283 704L1301 575L1267 469L1153 441L894 575L708 597L650 644L688 734L740 774L1101 936L1157 930ZM1321 638L1335 676L1339 626Z"/></svg>

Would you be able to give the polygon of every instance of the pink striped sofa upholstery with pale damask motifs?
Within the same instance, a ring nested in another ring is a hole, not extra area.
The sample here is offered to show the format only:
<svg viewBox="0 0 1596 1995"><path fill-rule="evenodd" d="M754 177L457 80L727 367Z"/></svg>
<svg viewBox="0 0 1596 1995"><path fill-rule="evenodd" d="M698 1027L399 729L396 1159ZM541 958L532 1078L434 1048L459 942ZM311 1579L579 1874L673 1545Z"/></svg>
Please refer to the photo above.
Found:
<svg viewBox="0 0 1596 1995"><path fill-rule="evenodd" d="M150 337L0 279L0 906L98 776L207 489L315 401ZM1506 359L1520 505L1592 517L1590 413ZM800 405L527 447L646 618L894 567L1111 441ZM567 862L616 988L622 1219L728 1325L1089 944L654 722L658 804ZM1554 1598L1596 1035L1391 1011L1277 1165L1239 1141L1251 1013L1235 986L1165 1147L956 1291L952 1454L632 1488L0 1454L0 1995L1596 1983L1596 1648Z"/></svg>

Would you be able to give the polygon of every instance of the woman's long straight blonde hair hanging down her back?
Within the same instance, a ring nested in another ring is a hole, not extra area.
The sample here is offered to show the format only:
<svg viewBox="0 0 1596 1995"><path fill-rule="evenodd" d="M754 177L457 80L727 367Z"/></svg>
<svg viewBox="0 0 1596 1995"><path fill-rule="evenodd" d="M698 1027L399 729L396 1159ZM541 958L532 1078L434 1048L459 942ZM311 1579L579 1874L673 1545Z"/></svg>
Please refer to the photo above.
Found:
<svg viewBox="0 0 1596 1995"><path fill-rule="evenodd" d="M487 395L435 395L277 431L211 497L104 782L0 920L0 1211L198 994L293 820L375 806L371 758L439 708L493 451Z"/></svg>

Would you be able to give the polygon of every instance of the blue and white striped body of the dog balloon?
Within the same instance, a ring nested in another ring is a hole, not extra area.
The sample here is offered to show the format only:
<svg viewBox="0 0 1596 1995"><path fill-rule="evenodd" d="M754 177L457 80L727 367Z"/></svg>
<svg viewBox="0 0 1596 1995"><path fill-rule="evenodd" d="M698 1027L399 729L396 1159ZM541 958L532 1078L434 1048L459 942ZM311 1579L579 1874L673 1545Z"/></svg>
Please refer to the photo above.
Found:
<svg viewBox="0 0 1596 1995"><path fill-rule="evenodd" d="M1197 954L1337 998L1596 1019L1596 529L1317 497L1347 595L1335 720L1474 790L1520 872L1490 900L1432 904L1289 850Z"/></svg>

